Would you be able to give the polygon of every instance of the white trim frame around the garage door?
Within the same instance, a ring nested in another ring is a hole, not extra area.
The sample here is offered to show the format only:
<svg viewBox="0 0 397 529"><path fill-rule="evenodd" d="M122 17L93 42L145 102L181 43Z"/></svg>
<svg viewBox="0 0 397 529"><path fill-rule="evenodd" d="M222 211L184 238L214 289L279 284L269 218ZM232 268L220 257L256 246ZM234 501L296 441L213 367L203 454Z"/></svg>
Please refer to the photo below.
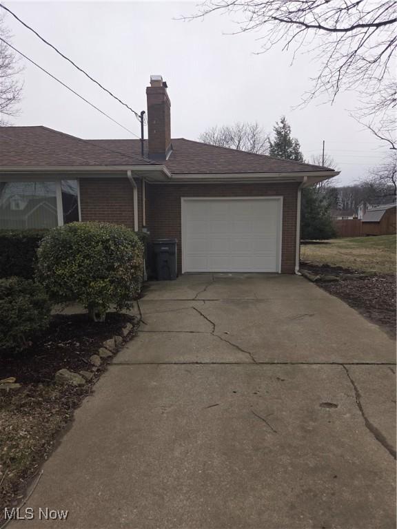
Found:
<svg viewBox="0 0 397 529"><path fill-rule="evenodd" d="M186 272L185 262L185 241L186 241L186 208L185 204L192 200L278 200L280 203L280 212L278 218L278 262L276 272L281 273L281 260L283 254L283 196L281 195L267 195L267 196L182 196L181 197L181 252L182 252L182 273ZM248 272L247 272L248 273ZM267 272L263 272L267 273Z"/></svg>

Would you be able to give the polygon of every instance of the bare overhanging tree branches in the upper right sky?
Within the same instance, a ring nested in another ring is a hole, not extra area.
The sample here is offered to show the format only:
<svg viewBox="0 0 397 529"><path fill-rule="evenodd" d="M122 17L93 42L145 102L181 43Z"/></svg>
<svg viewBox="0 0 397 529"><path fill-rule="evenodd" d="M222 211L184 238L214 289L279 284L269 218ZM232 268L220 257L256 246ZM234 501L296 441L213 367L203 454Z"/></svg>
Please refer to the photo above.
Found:
<svg viewBox="0 0 397 529"><path fill-rule="evenodd" d="M393 58L397 48L394 0L205 0L198 12L238 17L239 32L256 32L261 52L310 51L317 72L303 103L320 94L334 101L340 90L358 90L360 116L387 119L396 107Z"/></svg>

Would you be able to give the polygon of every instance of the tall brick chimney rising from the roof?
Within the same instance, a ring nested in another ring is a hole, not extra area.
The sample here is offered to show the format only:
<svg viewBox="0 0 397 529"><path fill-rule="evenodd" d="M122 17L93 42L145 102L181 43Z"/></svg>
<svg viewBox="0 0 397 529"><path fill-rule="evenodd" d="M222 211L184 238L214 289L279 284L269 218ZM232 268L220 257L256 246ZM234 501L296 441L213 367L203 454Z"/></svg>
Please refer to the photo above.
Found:
<svg viewBox="0 0 397 529"><path fill-rule="evenodd" d="M161 75L150 76L147 96L147 143L149 158L165 160L172 151L171 102Z"/></svg>

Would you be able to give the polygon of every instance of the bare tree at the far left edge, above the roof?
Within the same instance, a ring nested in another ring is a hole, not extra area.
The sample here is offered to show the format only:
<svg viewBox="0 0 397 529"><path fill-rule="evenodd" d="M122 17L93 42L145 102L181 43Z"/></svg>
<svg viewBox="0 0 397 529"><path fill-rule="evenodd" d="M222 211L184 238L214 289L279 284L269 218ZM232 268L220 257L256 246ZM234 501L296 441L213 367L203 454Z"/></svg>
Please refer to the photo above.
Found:
<svg viewBox="0 0 397 529"><path fill-rule="evenodd" d="M0 37L10 41L10 31L0 15ZM9 46L0 41L0 126L7 124L8 116L18 113L18 103L21 101L22 83L19 74L22 68L18 59Z"/></svg>

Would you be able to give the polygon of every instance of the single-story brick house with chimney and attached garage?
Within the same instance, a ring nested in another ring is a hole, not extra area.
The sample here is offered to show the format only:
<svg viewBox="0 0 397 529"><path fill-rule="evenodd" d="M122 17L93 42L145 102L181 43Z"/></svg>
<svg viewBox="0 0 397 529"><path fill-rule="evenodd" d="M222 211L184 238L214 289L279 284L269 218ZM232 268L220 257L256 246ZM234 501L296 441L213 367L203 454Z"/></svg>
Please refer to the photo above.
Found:
<svg viewBox="0 0 397 529"><path fill-rule="evenodd" d="M32 196L56 204L57 218L41 208L37 228L96 220L145 229L152 239L176 238L179 273L297 271L301 189L338 172L171 138L161 76L151 77L146 94L143 155L139 139L83 140L43 126L1 127L1 193L17 184L21 204ZM195 110L186 112L194 118ZM23 209L12 213L18 214ZM0 228L10 217L3 207Z"/></svg>

